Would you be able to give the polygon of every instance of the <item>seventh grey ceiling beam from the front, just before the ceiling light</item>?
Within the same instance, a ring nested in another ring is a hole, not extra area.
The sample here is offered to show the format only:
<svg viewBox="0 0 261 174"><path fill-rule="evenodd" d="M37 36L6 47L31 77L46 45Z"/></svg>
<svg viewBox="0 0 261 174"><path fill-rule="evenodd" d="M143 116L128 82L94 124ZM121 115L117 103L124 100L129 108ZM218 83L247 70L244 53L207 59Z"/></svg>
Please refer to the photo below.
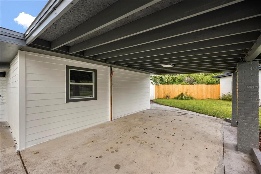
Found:
<svg viewBox="0 0 261 174"><path fill-rule="evenodd" d="M210 53L210 54L202 54L202 55L194 55L194 56L182 56L182 57L171 57L168 59L158 59L158 60L151 60L151 61L143 61L143 62L134 62L134 63L126 63L123 66L133 66L133 65L155 65L156 63L165 64L171 61L181 61L181 60L201 60L207 57L220 57L220 56L228 56L228 55L242 55L243 50L235 50L235 51L226 51L220 53Z"/></svg>

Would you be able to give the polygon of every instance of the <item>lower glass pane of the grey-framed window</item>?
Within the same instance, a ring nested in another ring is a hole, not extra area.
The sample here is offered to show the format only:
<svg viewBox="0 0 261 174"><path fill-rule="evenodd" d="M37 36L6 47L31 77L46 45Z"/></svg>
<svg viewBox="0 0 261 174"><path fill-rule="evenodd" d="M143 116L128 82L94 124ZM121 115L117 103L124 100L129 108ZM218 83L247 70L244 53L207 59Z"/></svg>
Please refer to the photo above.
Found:
<svg viewBox="0 0 261 174"><path fill-rule="evenodd" d="M70 98L93 97L93 85L70 85Z"/></svg>

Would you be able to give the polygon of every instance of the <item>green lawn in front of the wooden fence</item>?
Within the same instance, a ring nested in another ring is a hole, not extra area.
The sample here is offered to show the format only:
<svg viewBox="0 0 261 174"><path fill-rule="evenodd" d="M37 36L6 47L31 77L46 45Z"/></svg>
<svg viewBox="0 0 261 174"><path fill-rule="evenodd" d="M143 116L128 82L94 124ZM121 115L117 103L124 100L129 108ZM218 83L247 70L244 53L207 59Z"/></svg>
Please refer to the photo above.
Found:
<svg viewBox="0 0 261 174"><path fill-rule="evenodd" d="M200 114L206 114L217 118L230 118L232 102L217 100L217 99L205 99L205 100L174 100L174 99L155 99L154 102L171 106L175 108L181 108L188 111L197 112ZM261 108L259 108L259 119L261 119ZM261 127L259 121L259 128Z"/></svg>

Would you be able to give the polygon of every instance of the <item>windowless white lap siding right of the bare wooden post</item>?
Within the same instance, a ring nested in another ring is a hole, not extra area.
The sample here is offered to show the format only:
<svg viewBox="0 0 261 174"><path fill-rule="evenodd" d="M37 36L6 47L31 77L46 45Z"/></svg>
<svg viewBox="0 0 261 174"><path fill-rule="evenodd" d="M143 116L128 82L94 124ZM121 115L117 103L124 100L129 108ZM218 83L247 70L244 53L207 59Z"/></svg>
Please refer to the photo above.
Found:
<svg viewBox="0 0 261 174"><path fill-rule="evenodd" d="M118 68L113 71L113 119L149 109L149 74Z"/></svg>

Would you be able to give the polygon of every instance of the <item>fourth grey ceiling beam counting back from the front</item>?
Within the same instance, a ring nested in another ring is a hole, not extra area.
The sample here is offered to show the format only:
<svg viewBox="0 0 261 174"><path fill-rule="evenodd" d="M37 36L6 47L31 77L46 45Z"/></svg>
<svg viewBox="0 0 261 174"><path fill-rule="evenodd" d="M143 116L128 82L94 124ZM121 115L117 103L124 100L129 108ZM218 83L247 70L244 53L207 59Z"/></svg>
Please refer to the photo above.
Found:
<svg viewBox="0 0 261 174"><path fill-rule="evenodd" d="M261 29L261 17L251 18L243 21L234 22L232 24L226 24L214 28L209 28L206 30L201 30L189 34L184 34L181 36L168 38L164 40L159 40L156 42L151 42L135 47L125 48L117 51L112 51L104 54L99 54L96 57L96 60L106 59L115 56L128 55L133 53L139 53L143 51L150 51L155 49L161 49L166 47L172 47L175 45L188 44L193 42L199 42L203 40L209 40L219 37L225 37L240 33L246 33L251 31L258 31ZM87 51L87 50L86 50ZM92 56L86 54L84 51L84 56Z"/></svg>

